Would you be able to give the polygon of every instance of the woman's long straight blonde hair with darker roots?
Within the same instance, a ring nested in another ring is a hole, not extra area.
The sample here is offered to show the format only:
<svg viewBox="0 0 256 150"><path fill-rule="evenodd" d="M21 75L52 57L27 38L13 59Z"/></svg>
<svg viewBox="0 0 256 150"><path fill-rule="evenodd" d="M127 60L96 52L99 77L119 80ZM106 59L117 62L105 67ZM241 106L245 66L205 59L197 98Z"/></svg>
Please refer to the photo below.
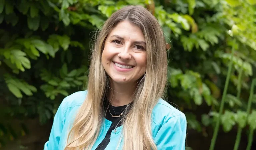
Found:
<svg viewBox="0 0 256 150"><path fill-rule="evenodd" d="M152 138L152 110L163 97L167 81L167 54L163 31L157 19L142 6L126 6L106 20L92 51L87 96L79 108L68 134L65 150L91 149L104 121L103 101L108 75L101 64L104 42L121 21L139 26L146 41L147 67L133 96L133 105L123 120L123 150L156 150ZM130 125L133 125L132 127Z"/></svg>

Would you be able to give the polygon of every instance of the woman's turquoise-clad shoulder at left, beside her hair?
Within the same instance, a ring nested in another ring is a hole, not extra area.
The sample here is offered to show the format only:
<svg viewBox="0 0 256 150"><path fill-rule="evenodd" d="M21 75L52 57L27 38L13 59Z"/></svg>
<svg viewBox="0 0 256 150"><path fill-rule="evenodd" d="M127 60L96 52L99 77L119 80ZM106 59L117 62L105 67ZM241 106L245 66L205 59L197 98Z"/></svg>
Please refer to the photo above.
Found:
<svg viewBox="0 0 256 150"><path fill-rule="evenodd" d="M72 93L71 95L63 99L63 101L61 102L61 107L63 109L67 109L75 106L81 106L86 98L86 95L87 95L87 90Z"/></svg>

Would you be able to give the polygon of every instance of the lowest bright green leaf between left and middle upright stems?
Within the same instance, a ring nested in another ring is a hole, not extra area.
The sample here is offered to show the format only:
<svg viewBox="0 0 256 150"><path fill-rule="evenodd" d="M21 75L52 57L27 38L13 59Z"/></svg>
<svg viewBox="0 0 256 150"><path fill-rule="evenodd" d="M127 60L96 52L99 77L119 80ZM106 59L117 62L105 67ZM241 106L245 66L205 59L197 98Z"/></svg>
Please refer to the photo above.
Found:
<svg viewBox="0 0 256 150"><path fill-rule="evenodd" d="M235 114L231 111L226 110L221 117L221 122L223 125L223 130L229 132L232 127L236 124Z"/></svg>

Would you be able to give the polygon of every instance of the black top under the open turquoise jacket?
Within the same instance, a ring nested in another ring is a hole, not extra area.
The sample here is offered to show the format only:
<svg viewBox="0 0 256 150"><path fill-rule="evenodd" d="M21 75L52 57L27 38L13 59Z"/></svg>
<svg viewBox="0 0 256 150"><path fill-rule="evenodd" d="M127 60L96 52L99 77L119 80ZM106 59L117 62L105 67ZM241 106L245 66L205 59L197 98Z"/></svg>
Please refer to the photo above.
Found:
<svg viewBox="0 0 256 150"><path fill-rule="evenodd" d="M115 107L115 106L112 106L107 100L105 100L105 103L104 103L104 112L106 112L105 118L107 120L111 121L112 124L111 124L110 128L108 129L105 138L102 140L102 142L98 145L98 147L95 150L105 150L108 143L110 142L111 132L113 130L115 130L115 128L120 127L122 125L122 122L120 120L123 116L125 116L125 112L126 113L128 112L130 106L131 106L131 104L129 104L128 107L127 107L127 105ZM126 108L126 110L125 110L125 108ZM122 112L124 114L121 117L115 118L115 117L111 116L109 111L113 116L114 115L120 115Z"/></svg>

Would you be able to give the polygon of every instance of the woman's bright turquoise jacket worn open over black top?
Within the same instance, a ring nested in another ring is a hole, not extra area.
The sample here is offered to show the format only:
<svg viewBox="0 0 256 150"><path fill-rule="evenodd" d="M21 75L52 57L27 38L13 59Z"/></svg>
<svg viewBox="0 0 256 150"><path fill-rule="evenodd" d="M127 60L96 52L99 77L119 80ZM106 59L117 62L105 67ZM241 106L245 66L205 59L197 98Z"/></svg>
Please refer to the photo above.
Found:
<svg viewBox="0 0 256 150"><path fill-rule="evenodd" d="M44 150L64 150L70 123L76 112L85 100L87 91L75 92L67 96L60 104L54 117L49 140L44 145ZM111 121L105 119L101 127L101 133L93 145L95 150L105 138ZM117 147L123 126L112 131L110 142L105 150L115 150ZM185 150L187 121L185 115L171 106L163 99L159 99L152 112L152 137L158 150ZM119 150L122 149L122 142Z"/></svg>

